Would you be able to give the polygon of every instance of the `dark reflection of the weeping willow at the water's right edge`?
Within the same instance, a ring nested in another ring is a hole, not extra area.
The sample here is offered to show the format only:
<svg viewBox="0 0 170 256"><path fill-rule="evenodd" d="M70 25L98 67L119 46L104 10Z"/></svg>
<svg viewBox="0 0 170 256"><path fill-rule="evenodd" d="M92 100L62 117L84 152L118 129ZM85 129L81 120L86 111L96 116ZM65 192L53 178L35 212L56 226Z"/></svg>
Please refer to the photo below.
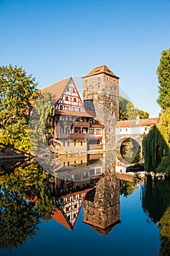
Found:
<svg viewBox="0 0 170 256"><path fill-rule="evenodd" d="M153 181L147 176L142 187L142 208L147 217L160 229L159 255L170 253L170 181Z"/></svg>

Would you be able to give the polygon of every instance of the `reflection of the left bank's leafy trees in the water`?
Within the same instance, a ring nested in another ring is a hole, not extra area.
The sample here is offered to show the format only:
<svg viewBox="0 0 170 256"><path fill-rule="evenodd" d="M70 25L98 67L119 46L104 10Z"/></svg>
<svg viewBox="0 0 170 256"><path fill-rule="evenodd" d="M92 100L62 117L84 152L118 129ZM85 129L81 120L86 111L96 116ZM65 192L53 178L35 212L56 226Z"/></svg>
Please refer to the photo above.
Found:
<svg viewBox="0 0 170 256"><path fill-rule="evenodd" d="M54 199L45 172L35 162L2 174L0 247L10 250L36 234L40 218L50 219Z"/></svg>

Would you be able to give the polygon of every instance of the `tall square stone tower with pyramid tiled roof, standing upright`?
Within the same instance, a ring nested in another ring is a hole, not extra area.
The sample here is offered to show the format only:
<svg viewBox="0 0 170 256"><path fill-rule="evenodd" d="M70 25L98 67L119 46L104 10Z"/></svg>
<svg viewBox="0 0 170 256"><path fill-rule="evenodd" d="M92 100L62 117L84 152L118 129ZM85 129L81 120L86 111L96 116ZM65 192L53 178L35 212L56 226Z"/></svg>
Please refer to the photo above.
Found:
<svg viewBox="0 0 170 256"><path fill-rule="evenodd" d="M90 71L82 81L85 108L104 125L104 149L113 150L115 125L119 119L119 78L102 65Z"/></svg>

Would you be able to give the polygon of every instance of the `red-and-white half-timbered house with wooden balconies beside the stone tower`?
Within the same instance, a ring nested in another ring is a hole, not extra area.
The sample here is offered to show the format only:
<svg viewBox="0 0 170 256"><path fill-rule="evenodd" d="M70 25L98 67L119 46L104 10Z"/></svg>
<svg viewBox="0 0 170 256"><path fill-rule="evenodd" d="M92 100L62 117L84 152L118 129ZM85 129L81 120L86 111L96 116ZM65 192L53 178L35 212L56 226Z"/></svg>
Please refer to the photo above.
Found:
<svg viewBox="0 0 170 256"><path fill-rule="evenodd" d="M72 77L48 86L55 105L53 116L53 138L61 142L67 153L87 152L102 149L103 125L90 116L80 98Z"/></svg>

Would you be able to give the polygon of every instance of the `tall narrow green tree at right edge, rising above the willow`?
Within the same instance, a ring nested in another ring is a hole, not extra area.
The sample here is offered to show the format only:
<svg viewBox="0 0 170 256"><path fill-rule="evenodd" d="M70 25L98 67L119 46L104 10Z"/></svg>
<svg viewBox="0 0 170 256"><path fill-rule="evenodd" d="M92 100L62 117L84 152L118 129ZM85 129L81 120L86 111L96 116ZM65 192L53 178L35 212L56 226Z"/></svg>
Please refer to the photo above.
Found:
<svg viewBox="0 0 170 256"><path fill-rule="evenodd" d="M157 75L159 83L157 102L165 110L170 107L170 48L161 53Z"/></svg>

